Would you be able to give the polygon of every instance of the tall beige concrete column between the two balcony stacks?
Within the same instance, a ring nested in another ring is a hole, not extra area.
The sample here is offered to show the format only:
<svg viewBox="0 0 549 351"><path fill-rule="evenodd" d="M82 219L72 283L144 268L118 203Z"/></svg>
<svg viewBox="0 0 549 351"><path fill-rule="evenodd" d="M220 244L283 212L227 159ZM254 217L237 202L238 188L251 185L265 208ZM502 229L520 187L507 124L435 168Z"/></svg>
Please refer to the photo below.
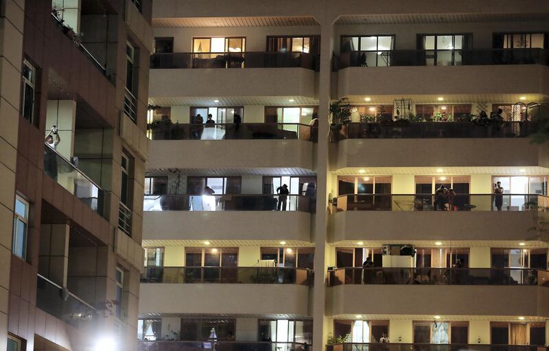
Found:
<svg viewBox="0 0 549 351"><path fill-rule="evenodd" d="M318 144L316 153L317 182L316 182L316 215L314 223L314 290L312 315L313 319L313 350L325 349L328 337L329 319L326 317L326 260L329 250L327 245L328 225L328 195L331 190L329 183L328 153L329 153L329 104L331 101L331 56L334 50L334 21L324 19L320 21L320 79L318 82Z"/></svg>

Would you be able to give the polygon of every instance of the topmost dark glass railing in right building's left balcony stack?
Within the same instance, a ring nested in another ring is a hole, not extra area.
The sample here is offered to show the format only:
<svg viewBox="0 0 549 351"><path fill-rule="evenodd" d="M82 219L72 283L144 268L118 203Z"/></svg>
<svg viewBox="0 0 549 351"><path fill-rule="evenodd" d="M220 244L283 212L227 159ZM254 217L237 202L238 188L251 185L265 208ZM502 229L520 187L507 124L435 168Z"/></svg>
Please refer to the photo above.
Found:
<svg viewBox="0 0 549 351"><path fill-rule="evenodd" d="M316 56L301 52L177 52L150 56L151 69L316 69L317 66Z"/></svg>

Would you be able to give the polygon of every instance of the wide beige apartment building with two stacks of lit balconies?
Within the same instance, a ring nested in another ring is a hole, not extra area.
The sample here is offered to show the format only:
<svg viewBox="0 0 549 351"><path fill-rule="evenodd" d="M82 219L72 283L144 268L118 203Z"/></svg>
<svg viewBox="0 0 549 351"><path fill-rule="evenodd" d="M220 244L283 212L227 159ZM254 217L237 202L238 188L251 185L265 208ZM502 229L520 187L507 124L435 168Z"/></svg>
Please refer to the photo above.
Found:
<svg viewBox="0 0 549 351"><path fill-rule="evenodd" d="M549 4L152 14L139 350L546 346Z"/></svg>

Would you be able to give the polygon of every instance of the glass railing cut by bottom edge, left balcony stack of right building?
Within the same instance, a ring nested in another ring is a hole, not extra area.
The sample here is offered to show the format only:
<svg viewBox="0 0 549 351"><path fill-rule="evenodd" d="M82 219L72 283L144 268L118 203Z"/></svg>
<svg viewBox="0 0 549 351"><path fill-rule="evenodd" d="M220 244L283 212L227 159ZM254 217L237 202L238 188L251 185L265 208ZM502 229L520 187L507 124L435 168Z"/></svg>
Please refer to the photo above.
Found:
<svg viewBox="0 0 549 351"><path fill-rule="evenodd" d="M270 341L139 341L137 351L298 351L303 343ZM312 350L312 346L309 346ZM526 350L525 350L526 351Z"/></svg>

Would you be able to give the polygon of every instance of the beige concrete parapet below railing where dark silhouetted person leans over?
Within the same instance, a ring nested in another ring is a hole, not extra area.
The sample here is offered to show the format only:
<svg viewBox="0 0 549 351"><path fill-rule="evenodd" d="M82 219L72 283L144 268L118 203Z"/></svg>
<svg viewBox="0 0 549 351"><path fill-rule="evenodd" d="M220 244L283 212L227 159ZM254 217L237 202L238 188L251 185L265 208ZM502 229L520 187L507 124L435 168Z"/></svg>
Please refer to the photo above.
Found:
<svg viewBox="0 0 549 351"><path fill-rule="evenodd" d="M311 215L297 211L145 212L143 219L143 240L311 239Z"/></svg>

